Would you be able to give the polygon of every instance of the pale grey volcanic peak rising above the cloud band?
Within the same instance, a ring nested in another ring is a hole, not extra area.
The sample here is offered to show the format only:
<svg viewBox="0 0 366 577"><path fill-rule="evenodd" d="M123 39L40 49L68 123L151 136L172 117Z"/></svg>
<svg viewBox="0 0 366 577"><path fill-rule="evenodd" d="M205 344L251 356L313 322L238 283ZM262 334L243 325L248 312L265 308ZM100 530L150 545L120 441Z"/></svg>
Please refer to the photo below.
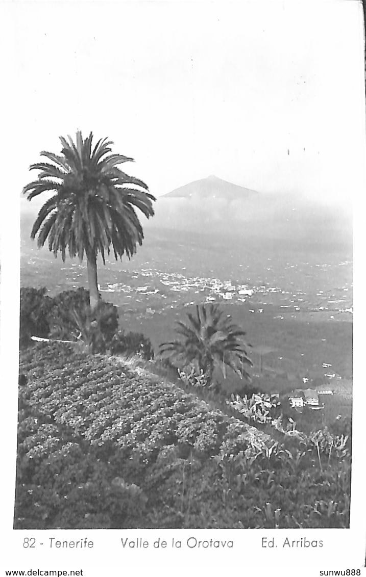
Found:
<svg viewBox="0 0 366 577"><path fill-rule="evenodd" d="M248 196L258 194L255 190L250 190L218 178L215 175L190 182L180 186L161 198L224 198L225 200L243 200Z"/></svg>

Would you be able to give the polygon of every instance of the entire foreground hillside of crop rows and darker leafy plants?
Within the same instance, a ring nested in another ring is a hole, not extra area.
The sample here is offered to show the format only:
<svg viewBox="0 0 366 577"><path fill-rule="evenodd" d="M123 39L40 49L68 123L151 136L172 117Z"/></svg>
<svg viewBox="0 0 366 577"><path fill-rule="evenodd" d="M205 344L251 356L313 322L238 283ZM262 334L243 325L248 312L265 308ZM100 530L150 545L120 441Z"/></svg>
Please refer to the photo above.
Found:
<svg viewBox="0 0 366 577"><path fill-rule="evenodd" d="M347 527L347 437L283 442L123 359L21 351L17 529Z"/></svg>

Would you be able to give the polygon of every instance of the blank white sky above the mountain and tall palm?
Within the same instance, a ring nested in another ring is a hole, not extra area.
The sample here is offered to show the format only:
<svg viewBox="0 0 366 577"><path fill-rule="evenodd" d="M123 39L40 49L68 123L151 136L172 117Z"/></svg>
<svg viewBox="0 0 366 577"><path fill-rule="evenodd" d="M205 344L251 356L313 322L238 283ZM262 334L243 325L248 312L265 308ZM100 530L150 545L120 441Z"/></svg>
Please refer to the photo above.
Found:
<svg viewBox="0 0 366 577"><path fill-rule="evenodd" d="M156 196L209 174L326 202L364 189L361 3L2 8L13 188L80 128L135 158L127 172Z"/></svg>

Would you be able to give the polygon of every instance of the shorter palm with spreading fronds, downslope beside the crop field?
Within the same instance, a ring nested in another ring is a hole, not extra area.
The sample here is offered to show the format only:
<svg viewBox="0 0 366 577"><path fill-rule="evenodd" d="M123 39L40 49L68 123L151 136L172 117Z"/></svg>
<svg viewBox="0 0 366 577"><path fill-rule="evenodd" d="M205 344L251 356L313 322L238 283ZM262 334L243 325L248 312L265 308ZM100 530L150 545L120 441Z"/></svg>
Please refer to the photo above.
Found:
<svg viewBox="0 0 366 577"><path fill-rule="evenodd" d="M160 345L162 358L175 365L193 365L205 373L211 382L216 368L223 372L229 367L240 377L249 379L245 332L232 323L219 305L196 305L195 314L187 314L188 321L176 323L177 339ZM249 345L250 346L250 345Z"/></svg>

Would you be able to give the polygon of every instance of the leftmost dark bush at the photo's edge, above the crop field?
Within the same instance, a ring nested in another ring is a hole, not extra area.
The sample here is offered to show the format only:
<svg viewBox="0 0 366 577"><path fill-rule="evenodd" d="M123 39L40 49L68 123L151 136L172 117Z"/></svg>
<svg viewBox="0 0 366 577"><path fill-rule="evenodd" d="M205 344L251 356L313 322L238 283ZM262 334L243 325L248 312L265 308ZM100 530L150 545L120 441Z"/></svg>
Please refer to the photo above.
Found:
<svg viewBox="0 0 366 577"><path fill-rule="evenodd" d="M22 287L20 289L20 346L29 344L31 336L49 335L49 312L52 299L47 288Z"/></svg>

